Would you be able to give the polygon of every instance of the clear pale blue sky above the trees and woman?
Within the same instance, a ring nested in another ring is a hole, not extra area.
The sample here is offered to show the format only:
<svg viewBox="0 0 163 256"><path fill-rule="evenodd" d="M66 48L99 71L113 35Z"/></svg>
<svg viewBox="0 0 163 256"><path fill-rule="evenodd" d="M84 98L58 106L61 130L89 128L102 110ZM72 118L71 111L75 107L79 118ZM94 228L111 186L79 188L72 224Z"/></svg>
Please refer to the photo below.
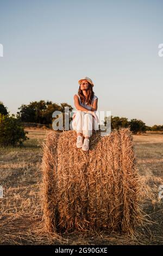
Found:
<svg viewBox="0 0 163 256"><path fill-rule="evenodd" d="M162 125L162 25L162 0L0 0L0 101L74 107L88 76L98 111Z"/></svg>

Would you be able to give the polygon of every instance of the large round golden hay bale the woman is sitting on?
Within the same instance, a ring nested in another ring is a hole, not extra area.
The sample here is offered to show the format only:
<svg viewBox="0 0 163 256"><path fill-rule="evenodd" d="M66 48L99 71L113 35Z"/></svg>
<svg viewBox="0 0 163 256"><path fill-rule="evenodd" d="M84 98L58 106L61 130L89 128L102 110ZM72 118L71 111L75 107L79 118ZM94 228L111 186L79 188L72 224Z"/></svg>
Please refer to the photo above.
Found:
<svg viewBox="0 0 163 256"><path fill-rule="evenodd" d="M76 147L76 132L48 132L43 144L43 220L53 233L133 232L141 223L139 176L129 128Z"/></svg>

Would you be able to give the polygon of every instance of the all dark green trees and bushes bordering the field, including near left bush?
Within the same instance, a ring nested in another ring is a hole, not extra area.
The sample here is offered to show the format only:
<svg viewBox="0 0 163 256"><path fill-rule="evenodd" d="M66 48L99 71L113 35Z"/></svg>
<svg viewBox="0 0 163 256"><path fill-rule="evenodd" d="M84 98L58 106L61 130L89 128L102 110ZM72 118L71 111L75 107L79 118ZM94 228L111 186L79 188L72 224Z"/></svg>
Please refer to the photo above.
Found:
<svg viewBox="0 0 163 256"><path fill-rule="evenodd" d="M33 101L28 105L21 105L18 108L16 116L10 115L8 108L4 106L3 102L0 102L0 145L15 145L17 143L22 144L27 138L22 125L23 123L36 123L42 125L48 125L52 127L52 114L54 111L60 111L65 114L65 107L69 107L69 111L72 112L73 107L67 103L53 103L52 101ZM72 118L70 118L70 121ZM163 125L147 126L139 119L131 119L130 121L124 117L108 117L104 118L103 124L106 126L108 120L111 120L111 130L119 129L120 127L130 127L133 133L146 132L146 131L163 131Z"/></svg>

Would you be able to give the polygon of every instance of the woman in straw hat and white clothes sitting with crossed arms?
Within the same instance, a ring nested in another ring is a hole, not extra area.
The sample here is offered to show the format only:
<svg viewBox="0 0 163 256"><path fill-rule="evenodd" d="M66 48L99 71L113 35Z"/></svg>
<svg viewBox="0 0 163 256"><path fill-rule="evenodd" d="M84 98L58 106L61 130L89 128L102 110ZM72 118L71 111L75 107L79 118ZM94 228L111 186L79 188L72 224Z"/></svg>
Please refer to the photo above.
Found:
<svg viewBox="0 0 163 256"><path fill-rule="evenodd" d="M78 95L74 95L77 112L72 117L72 128L77 132L77 148L87 151L92 130L98 130L99 120L96 115L98 97L94 95L92 89L94 85L89 77L80 79L79 84Z"/></svg>

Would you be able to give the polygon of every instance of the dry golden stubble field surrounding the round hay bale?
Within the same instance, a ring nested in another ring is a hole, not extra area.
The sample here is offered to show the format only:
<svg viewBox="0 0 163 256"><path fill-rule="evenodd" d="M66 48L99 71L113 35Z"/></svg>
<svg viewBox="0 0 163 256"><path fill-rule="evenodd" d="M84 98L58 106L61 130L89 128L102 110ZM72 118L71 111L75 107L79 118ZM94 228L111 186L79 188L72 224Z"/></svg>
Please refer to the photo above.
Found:
<svg viewBox="0 0 163 256"><path fill-rule="evenodd" d="M146 223L132 237L102 232L79 232L63 237L43 229L40 184L42 181L41 143L44 129L26 129L28 141L22 148L0 148L0 244L3 245L159 245L163 243L163 133L134 135L137 168L142 176L144 199L141 205Z"/></svg>

